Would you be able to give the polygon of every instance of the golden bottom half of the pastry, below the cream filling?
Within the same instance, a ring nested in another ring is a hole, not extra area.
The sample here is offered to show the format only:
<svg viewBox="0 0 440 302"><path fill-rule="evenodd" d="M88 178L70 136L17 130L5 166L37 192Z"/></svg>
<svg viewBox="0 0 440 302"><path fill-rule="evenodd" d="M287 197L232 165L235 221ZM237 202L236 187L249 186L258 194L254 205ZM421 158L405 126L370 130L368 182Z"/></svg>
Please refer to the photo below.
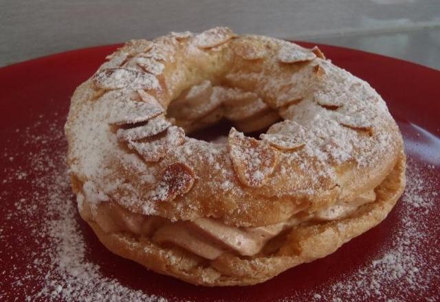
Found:
<svg viewBox="0 0 440 302"><path fill-rule="evenodd" d="M268 242L276 244L275 251L268 255L224 253L209 260L173 244L157 244L148 237L106 233L93 220L86 221L110 251L155 272L203 286L248 286L325 257L382 222L404 191L405 166L401 154L391 173L375 188L374 202L363 205L349 218L293 227L283 235L282 242Z"/></svg>

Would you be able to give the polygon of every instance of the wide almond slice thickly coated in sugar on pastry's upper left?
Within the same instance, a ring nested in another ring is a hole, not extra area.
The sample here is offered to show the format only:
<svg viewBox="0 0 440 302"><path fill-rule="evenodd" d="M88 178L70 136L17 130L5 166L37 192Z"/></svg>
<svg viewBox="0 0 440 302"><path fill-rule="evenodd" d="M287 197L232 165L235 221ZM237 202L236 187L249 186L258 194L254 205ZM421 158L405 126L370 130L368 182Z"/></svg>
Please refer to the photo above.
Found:
<svg viewBox="0 0 440 302"><path fill-rule="evenodd" d="M113 67L102 69L94 75L93 82L98 89L155 89L159 87L159 81L151 73L144 71Z"/></svg>

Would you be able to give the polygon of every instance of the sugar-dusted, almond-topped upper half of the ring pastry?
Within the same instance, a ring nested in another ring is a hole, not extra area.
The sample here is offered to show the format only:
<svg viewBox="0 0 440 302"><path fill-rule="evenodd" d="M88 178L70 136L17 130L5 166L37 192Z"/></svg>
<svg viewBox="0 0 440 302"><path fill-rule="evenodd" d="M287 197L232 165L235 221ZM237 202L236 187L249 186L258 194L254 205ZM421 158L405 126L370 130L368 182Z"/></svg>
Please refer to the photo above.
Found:
<svg viewBox="0 0 440 302"><path fill-rule="evenodd" d="M402 149L380 95L317 48L216 27L133 40L108 59L65 126L74 189L96 204L260 227L368 193ZM270 128L186 137L221 118Z"/></svg>

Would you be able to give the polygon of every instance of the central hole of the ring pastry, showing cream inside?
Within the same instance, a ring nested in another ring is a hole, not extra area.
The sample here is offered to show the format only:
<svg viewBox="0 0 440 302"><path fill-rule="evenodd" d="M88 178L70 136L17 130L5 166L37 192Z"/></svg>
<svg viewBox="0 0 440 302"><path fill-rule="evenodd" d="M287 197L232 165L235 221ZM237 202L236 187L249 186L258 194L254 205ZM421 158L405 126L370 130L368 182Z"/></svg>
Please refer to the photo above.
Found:
<svg viewBox="0 0 440 302"><path fill-rule="evenodd" d="M184 90L168 106L167 117L189 137L219 142L225 141L231 127L257 138L281 120L256 93L210 80Z"/></svg>

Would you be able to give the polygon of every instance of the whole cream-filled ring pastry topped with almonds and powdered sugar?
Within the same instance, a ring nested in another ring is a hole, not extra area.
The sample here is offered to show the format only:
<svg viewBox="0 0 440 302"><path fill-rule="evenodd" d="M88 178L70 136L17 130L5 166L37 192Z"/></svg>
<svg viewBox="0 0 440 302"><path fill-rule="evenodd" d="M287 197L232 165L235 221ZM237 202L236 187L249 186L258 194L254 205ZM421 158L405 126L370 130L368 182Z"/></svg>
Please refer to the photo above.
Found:
<svg viewBox="0 0 440 302"><path fill-rule="evenodd" d="M188 137L221 120L227 138ZM65 132L102 244L204 286L325 257L405 186L401 134L369 84L317 47L226 27L126 43L76 89Z"/></svg>

